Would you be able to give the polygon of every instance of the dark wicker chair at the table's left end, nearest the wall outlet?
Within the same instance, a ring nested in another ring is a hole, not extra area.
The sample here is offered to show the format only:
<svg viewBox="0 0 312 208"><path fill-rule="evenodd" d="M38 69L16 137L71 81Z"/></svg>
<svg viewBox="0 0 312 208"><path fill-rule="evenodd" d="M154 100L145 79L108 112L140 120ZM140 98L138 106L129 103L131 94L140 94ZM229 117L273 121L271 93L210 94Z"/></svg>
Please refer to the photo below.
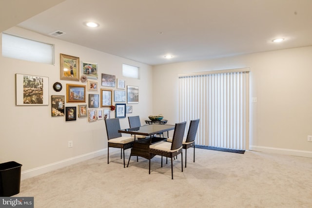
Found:
<svg viewBox="0 0 312 208"><path fill-rule="evenodd" d="M107 132L107 164L109 164L109 148L120 148L120 159L122 159L123 153L123 167L125 168L125 150L133 147L135 141L134 137L122 136L118 130L120 130L119 118L107 118L105 119L105 126Z"/></svg>

